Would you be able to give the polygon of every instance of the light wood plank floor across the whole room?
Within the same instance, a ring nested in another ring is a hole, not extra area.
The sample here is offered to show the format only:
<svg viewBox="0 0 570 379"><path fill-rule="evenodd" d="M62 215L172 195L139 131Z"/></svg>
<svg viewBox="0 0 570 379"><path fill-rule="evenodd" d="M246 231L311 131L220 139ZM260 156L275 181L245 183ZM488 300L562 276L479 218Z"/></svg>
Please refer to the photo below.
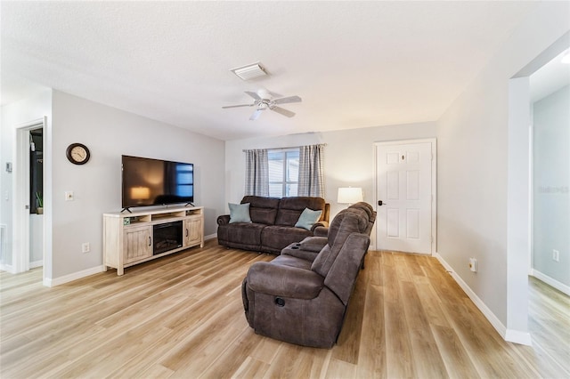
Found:
<svg viewBox="0 0 570 379"><path fill-rule="evenodd" d="M435 258L415 254L367 254L332 349L255 335L241 280L273 257L211 240L53 288L41 269L2 272L0 376L570 377L568 296L531 280L535 343L506 343Z"/></svg>

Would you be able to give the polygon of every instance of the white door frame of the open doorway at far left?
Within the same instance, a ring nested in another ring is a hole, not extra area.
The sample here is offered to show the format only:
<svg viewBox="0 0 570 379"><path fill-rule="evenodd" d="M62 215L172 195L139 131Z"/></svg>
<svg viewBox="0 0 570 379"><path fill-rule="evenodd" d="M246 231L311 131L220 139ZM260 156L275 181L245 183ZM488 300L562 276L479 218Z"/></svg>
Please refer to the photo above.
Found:
<svg viewBox="0 0 570 379"><path fill-rule="evenodd" d="M14 199L12 230L12 273L29 270L29 132L41 128L45 134L47 117L38 118L16 125L16 152L13 172L15 183L12 185ZM45 188L45 179L44 179ZM23 190L20 190L23 189ZM44 222L45 236L45 222ZM42 261L45 262L45 243Z"/></svg>

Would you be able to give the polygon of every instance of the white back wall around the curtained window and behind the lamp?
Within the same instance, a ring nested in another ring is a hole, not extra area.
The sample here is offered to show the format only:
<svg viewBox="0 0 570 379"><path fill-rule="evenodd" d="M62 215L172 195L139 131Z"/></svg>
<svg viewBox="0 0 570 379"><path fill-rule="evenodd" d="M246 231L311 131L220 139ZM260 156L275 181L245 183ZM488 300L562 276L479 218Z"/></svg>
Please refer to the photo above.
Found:
<svg viewBox="0 0 570 379"><path fill-rule="evenodd" d="M324 133L301 133L281 137L226 141L225 201L239 203L244 196L245 154L243 149L279 149L326 143L324 149L325 200L330 219L346 207L337 204L338 187L362 187L364 201L374 201L374 142L433 138L435 123L387 125ZM227 204L225 205L226 212ZM372 245L375 244L374 236Z"/></svg>

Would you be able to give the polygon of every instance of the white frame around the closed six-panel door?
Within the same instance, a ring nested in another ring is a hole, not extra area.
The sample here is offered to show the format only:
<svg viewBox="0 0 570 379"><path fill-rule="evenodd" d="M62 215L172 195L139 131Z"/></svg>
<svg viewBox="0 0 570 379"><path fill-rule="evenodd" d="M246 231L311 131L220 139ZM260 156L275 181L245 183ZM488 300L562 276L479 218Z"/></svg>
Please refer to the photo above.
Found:
<svg viewBox="0 0 570 379"><path fill-rule="evenodd" d="M407 145L411 143L431 144L431 256L437 253L437 139L424 138L419 140L394 140L374 142L374 208L378 206L378 150L381 146ZM378 238L374 238L374 249L379 249Z"/></svg>

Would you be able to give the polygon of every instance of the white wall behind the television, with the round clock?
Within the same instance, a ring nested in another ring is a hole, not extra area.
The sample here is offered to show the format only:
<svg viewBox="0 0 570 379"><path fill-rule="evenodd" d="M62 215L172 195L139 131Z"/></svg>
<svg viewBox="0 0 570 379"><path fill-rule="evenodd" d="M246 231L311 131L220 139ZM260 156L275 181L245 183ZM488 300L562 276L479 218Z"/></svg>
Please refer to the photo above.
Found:
<svg viewBox="0 0 570 379"><path fill-rule="evenodd" d="M86 165L67 160L73 142L91 150ZM53 154L53 278L102 265L102 214L121 209L122 154L193 163L194 204L205 207L205 234L216 233L224 141L54 91ZM74 201L65 201L69 190ZM84 242L90 253L81 252Z"/></svg>

